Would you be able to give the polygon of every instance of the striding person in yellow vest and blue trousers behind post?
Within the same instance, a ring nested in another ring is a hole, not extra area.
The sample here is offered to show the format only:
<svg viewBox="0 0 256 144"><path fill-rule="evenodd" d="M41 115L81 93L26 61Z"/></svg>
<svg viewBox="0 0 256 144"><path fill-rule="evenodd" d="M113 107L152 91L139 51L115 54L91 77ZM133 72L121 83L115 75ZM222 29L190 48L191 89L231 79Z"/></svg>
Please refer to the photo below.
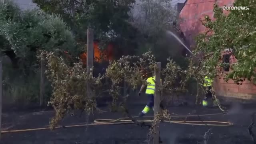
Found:
<svg viewBox="0 0 256 144"><path fill-rule="evenodd" d="M140 112L139 117L144 116L146 113L148 113L150 111L150 109L154 110L154 94L155 94L155 82L156 82L156 77L152 76L149 77L146 81L147 84L144 85L142 84L141 88L140 88L140 92L138 93L138 95L140 96L142 90L146 88L146 96L148 97L148 102L147 105L145 106L145 108L142 110L142 112ZM162 80L161 80L162 81ZM163 108L162 104L160 104L160 107Z"/></svg>

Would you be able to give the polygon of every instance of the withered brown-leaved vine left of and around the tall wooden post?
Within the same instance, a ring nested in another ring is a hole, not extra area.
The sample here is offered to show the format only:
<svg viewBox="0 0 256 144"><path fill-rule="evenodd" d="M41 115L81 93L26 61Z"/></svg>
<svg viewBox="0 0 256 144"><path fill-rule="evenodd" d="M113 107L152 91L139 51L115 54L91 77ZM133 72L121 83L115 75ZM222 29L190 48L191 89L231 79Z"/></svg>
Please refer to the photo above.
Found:
<svg viewBox="0 0 256 144"><path fill-rule="evenodd" d="M46 74L53 88L52 98L48 104L56 111L56 115L50 122L51 128L53 129L71 110L84 110L87 114L93 113L95 108L99 110L96 98L102 92L100 89L104 76L99 74L98 77L94 77L92 72L88 75L82 61L74 63L71 67L56 53L45 52L45 54L48 67ZM92 90L91 96L86 93L88 82Z"/></svg>

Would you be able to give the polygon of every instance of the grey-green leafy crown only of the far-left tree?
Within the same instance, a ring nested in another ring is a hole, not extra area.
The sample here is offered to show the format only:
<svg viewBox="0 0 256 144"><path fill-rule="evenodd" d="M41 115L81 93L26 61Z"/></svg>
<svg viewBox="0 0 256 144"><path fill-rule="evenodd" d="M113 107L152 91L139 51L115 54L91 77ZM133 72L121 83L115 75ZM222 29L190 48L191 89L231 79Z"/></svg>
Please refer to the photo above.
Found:
<svg viewBox="0 0 256 144"><path fill-rule="evenodd" d="M9 1L0 2L0 7L2 52L14 52L20 60L34 63L35 59L29 58L36 58L38 50L78 51L72 33L59 16L36 9L21 11Z"/></svg>

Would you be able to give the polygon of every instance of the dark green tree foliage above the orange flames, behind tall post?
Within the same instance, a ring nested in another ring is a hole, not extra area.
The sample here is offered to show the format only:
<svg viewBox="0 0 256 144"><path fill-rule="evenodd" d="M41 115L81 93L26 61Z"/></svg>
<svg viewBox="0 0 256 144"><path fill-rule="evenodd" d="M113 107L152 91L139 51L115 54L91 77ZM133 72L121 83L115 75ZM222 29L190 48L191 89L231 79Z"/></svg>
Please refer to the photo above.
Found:
<svg viewBox="0 0 256 144"><path fill-rule="evenodd" d="M135 0L33 0L47 13L60 14L77 41L85 44L86 29L93 28L98 40L129 41L134 28L128 12Z"/></svg>

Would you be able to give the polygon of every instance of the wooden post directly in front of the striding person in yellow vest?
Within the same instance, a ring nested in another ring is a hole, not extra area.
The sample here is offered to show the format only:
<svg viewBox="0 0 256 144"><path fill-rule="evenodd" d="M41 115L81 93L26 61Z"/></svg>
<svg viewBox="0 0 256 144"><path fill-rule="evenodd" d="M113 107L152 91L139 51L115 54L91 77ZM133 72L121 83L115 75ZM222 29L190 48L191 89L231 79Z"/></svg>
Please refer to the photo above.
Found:
<svg viewBox="0 0 256 144"><path fill-rule="evenodd" d="M161 62L156 64L156 87L155 87L155 95L154 95L154 117L157 116L160 112L160 91L158 90L158 86L160 86L160 70L161 70ZM154 135L153 135L153 144L159 144L160 134L159 134L159 121L156 122L154 126Z"/></svg>

